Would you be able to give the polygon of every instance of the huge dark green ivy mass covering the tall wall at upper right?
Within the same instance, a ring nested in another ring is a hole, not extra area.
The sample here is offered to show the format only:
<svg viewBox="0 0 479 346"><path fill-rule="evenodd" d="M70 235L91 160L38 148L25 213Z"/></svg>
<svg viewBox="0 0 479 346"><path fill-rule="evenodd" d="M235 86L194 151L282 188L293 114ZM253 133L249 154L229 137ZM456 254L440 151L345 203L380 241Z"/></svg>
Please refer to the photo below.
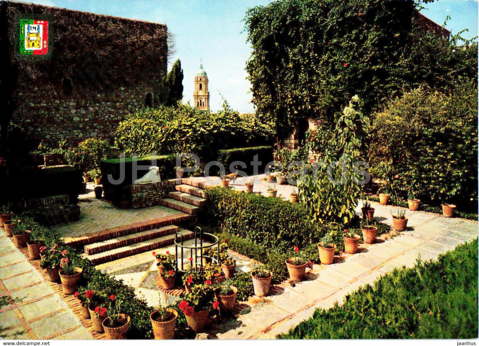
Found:
<svg viewBox="0 0 479 346"><path fill-rule="evenodd" d="M460 49L415 22L421 1L280 0L248 10L246 70L253 103L280 134L302 119L330 120L349 97L365 113L404 87L477 79L478 46ZM464 43L467 47L469 42Z"/></svg>

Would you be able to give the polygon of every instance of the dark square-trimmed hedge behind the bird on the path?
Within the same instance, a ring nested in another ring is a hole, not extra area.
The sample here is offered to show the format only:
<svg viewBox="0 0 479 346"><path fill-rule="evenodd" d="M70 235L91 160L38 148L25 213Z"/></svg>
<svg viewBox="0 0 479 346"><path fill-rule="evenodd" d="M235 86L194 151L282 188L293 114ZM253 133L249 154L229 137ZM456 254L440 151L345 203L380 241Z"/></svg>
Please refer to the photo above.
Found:
<svg viewBox="0 0 479 346"><path fill-rule="evenodd" d="M273 161L273 148L271 146L253 146L249 148L234 148L218 150L217 161L225 166L226 171L230 171L229 165L234 161L242 161L246 164L246 168L238 168L246 172L248 175L253 175L253 167L251 161L254 155L258 155L258 161L261 165L258 167L256 174L262 174L266 164Z"/></svg>

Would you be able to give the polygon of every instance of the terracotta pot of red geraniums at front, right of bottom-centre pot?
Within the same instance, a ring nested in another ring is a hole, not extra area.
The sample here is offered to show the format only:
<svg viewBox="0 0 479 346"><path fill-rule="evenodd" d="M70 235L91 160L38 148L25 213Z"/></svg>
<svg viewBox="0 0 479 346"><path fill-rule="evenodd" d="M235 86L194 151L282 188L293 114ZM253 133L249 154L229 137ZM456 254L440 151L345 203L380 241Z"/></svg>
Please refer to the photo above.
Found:
<svg viewBox="0 0 479 346"><path fill-rule="evenodd" d="M209 312L213 306L215 297L213 287L211 285L193 286L190 293L185 294L184 299L180 303L180 309L183 311L186 322L194 330L194 332L202 332L209 324Z"/></svg>

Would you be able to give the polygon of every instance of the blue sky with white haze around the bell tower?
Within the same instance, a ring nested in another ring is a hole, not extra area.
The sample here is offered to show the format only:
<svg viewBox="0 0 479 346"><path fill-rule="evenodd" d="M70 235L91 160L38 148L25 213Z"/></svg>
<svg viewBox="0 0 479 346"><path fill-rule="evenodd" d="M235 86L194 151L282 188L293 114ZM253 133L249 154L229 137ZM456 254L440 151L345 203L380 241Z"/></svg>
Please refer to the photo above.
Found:
<svg viewBox="0 0 479 346"><path fill-rule="evenodd" d="M183 102L192 100L193 79L203 59L208 74L210 107L221 108L221 93L239 112L253 112L250 83L244 70L251 48L242 32L248 8L271 0L23 0L47 6L110 14L167 24L174 35L176 52L170 66L180 59L184 72ZM470 38L478 34L477 0L436 0L422 13L438 24L447 15L446 28L453 33L464 28Z"/></svg>

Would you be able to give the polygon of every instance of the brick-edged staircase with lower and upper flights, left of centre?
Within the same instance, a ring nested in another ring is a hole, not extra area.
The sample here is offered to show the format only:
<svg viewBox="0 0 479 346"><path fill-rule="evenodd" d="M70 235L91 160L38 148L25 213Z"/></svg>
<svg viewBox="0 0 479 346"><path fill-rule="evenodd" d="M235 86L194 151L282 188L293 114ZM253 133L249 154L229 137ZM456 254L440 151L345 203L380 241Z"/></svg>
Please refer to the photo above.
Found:
<svg viewBox="0 0 479 346"><path fill-rule="evenodd" d="M185 178L178 182L181 184L175 186L176 191L161 200L161 205L178 213L68 238L65 243L83 248L83 256L98 265L172 245L176 232L180 232L184 240L193 239L194 233L181 228L181 224L191 220L204 207L204 189L208 186L201 178Z"/></svg>

